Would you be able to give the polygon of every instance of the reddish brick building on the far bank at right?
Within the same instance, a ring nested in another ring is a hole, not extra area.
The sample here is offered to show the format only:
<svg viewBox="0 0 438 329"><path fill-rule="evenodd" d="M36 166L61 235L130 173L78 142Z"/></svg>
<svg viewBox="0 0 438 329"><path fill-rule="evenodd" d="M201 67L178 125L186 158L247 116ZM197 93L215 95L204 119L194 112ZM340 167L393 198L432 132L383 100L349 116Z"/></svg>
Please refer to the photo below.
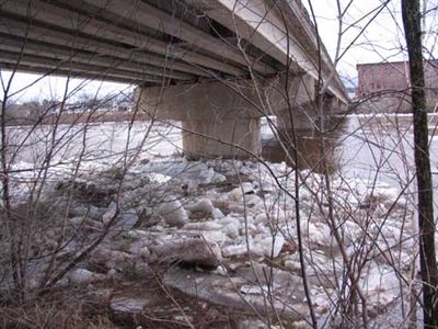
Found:
<svg viewBox="0 0 438 329"><path fill-rule="evenodd" d="M408 63L358 64L357 98L376 93L405 91L408 84ZM425 61L426 93L429 99L438 98L438 60Z"/></svg>

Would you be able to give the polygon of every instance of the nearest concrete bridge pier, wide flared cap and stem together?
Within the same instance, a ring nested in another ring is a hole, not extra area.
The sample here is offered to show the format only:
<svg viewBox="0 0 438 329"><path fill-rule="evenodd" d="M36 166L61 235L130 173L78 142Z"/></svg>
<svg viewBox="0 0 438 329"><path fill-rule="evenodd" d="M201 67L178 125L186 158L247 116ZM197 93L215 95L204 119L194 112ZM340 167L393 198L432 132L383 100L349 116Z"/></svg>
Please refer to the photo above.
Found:
<svg viewBox="0 0 438 329"><path fill-rule="evenodd" d="M251 84L203 82L138 88L140 111L155 120L182 122L188 159L251 158L262 150L258 99Z"/></svg>

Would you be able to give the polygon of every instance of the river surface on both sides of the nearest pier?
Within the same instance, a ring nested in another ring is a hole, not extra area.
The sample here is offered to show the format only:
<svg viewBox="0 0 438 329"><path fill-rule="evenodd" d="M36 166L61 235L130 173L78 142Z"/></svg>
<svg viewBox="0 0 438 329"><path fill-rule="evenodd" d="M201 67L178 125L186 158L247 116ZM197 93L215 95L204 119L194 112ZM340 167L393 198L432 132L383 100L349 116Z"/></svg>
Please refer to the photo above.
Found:
<svg viewBox="0 0 438 329"><path fill-rule="evenodd" d="M430 115L429 122L430 160L437 193L438 115ZM129 156L140 159L182 152L178 124L154 125L146 136L149 127L147 122L136 122L132 127L126 122L94 123L87 127L60 125L55 144L51 144L54 127L48 125L35 129L11 127L8 133L14 162L27 163L28 168L43 167L50 149L53 163L74 162L79 157L90 162L117 162L126 150ZM410 191L415 191L411 115L350 115L341 122L332 122L327 127L328 132L323 136L315 131L298 132L299 169L322 172L322 163L326 161L332 175L383 181L399 189L408 184ZM295 164L279 143L273 139L267 125L263 126L262 136L262 156L266 160ZM324 155L321 154L322 138L326 146ZM290 146L286 145L286 148L292 154Z"/></svg>

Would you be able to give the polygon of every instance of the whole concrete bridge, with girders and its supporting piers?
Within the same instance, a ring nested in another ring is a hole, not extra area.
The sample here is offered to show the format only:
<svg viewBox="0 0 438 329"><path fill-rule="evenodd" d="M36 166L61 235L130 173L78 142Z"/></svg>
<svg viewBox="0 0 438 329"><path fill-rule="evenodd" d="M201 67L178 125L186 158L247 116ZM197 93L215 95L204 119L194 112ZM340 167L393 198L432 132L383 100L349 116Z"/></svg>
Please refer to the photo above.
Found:
<svg viewBox="0 0 438 329"><path fill-rule="evenodd" d="M138 84L189 157L257 154L261 117L299 129L348 102L299 0L3 0L0 67Z"/></svg>

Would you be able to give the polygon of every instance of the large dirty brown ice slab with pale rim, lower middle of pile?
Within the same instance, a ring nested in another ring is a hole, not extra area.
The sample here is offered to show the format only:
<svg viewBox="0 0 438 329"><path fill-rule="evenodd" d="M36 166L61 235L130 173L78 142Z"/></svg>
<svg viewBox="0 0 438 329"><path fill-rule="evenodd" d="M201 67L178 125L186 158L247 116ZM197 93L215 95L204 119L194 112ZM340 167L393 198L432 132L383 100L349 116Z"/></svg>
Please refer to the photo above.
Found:
<svg viewBox="0 0 438 329"><path fill-rule="evenodd" d="M203 237L176 238L150 246L149 249L159 262L178 261L205 266L217 266L222 262L218 243Z"/></svg>

